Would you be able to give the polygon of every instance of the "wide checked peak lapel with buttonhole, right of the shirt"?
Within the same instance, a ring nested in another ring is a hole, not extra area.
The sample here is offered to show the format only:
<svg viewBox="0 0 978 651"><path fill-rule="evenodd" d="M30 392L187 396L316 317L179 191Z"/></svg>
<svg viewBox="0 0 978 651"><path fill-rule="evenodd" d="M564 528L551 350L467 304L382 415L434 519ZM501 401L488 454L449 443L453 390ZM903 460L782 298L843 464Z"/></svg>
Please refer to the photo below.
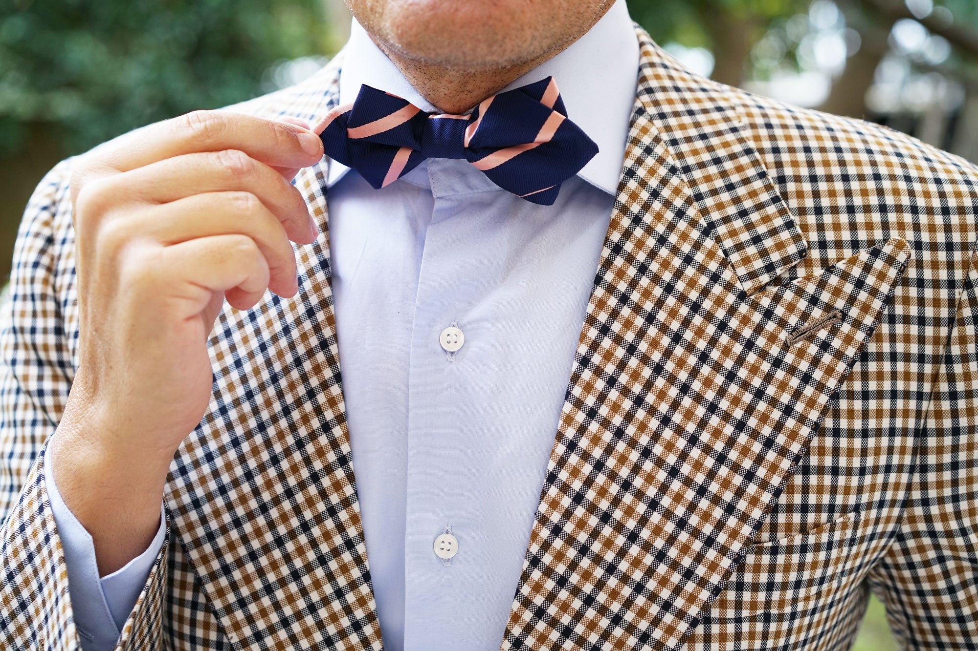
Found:
<svg viewBox="0 0 978 651"><path fill-rule="evenodd" d="M504 649L680 646L909 256L893 240L757 291L806 241L724 87L639 37L618 200Z"/></svg>

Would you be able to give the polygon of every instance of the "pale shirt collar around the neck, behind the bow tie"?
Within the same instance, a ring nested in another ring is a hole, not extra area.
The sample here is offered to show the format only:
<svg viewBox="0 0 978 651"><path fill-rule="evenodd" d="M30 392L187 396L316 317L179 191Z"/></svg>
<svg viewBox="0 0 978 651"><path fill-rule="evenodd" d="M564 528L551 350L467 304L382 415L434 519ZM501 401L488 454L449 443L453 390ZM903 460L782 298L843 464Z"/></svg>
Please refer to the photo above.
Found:
<svg viewBox="0 0 978 651"><path fill-rule="evenodd" d="M638 68L639 41L635 27L625 0L615 0L586 34L503 90L553 76L567 116L598 144L599 152L577 175L614 195L625 157ZM353 102L362 84L398 95L422 110L436 110L354 19L350 39L343 48L339 103ZM331 161L327 186L332 186L348 169Z"/></svg>

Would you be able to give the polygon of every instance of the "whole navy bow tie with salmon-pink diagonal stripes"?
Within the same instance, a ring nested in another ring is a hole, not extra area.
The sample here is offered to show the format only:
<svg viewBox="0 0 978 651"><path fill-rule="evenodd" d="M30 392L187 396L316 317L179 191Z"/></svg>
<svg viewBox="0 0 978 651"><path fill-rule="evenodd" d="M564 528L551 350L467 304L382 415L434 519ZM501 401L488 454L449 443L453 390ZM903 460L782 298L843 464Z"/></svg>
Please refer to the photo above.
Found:
<svg viewBox="0 0 978 651"><path fill-rule="evenodd" d="M428 113L363 85L320 128L326 154L375 189L425 158L465 158L500 188L541 205L553 204L560 184L598 153L567 119L553 77L493 95L468 115Z"/></svg>

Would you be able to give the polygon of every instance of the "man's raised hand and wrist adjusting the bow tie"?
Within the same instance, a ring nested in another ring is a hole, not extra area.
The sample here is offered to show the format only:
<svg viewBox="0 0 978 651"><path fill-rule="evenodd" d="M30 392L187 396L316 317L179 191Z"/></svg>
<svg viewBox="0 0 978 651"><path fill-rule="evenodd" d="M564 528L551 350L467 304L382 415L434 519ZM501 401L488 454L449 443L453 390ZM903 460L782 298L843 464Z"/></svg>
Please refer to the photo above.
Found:
<svg viewBox="0 0 978 651"><path fill-rule="evenodd" d="M289 240L318 231L289 181L323 155L300 124L198 111L75 166L79 361L51 454L102 575L156 533L170 461L210 401L224 300L246 310L266 288L298 290Z"/></svg>

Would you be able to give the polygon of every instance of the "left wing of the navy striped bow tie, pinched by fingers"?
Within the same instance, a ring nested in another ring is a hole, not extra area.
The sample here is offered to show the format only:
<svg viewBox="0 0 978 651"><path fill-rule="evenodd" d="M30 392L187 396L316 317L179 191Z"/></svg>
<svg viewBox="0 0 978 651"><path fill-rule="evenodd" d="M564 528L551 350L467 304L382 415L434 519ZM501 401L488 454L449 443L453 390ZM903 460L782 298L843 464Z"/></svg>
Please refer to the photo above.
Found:
<svg viewBox="0 0 978 651"><path fill-rule="evenodd" d="M352 105L330 111L320 133L327 155L352 167L379 189L423 160L427 115L396 95L363 85Z"/></svg>

